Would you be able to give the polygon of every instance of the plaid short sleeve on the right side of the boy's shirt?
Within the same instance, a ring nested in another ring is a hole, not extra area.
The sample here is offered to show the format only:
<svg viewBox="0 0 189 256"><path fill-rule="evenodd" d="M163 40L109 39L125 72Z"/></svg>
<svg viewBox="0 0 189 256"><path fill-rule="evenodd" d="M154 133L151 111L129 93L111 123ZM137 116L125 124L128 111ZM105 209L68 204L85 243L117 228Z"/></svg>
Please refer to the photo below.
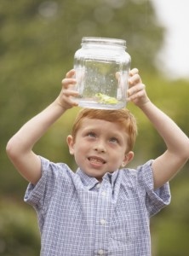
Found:
<svg viewBox="0 0 189 256"><path fill-rule="evenodd" d="M152 217L163 207L169 205L171 198L169 183L165 183L161 188L154 190L152 160L149 160L144 166L139 166L137 172L140 188L146 191L146 208L149 216Z"/></svg>

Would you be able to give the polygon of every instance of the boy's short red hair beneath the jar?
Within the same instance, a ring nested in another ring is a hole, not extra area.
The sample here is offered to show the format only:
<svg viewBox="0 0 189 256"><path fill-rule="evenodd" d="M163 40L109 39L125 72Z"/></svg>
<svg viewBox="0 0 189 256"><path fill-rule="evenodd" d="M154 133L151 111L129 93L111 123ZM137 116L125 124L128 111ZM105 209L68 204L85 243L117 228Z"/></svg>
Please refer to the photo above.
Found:
<svg viewBox="0 0 189 256"><path fill-rule="evenodd" d="M127 137L128 142L128 151L133 149L137 135L137 125L135 117L127 108L118 110L83 108L77 114L77 118L72 126L72 137L74 141L84 118L102 119L108 122L117 123L117 125L120 125L120 127L125 131L125 137Z"/></svg>

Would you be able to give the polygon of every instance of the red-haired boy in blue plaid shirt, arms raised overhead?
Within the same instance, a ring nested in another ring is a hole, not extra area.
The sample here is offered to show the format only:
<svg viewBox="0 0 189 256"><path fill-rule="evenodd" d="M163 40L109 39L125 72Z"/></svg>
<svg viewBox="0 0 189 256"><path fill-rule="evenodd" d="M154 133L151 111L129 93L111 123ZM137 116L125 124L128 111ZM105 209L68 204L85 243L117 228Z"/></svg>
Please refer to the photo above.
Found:
<svg viewBox="0 0 189 256"><path fill-rule="evenodd" d="M25 201L37 211L41 255L150 256L149 218L169 204L168 181L188 160L189 139L152 104L134 68L128 101L163 137L167 150L162 155L136 170L124 168L134 157L134 117L126 109L84 109L67 137L77 172L37 156L33 145L68 108L77 106L73 75L73 70L66 74L60 96L7 145L10 160L30 182Z"/></svg>

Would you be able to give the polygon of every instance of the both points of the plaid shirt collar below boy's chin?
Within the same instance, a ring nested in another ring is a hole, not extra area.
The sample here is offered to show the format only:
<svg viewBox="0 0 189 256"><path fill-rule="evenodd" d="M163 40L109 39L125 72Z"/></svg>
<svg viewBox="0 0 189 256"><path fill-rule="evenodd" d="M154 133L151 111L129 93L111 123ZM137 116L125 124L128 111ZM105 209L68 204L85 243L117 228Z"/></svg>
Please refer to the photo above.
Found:
<svg viewBox="0 0 189 256"><path fill-rule="evenodd" d="M83 172L80 168L77 169L76 174L81 178L81 181L85 187L88 189L94 188L97 183L100 183L95 177L88 176L85 172ZM106 172L106 174L102 177L104 180L111 183L112 188L114 187L115 181L117 179L118 170L115 172Z"/></svg>

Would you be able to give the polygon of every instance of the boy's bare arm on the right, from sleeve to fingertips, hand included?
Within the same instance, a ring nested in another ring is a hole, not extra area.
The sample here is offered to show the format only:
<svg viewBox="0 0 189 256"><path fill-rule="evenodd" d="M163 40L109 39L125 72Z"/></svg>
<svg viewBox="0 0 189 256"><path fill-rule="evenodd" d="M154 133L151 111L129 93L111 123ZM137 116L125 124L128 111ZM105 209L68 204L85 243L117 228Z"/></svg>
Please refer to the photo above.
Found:
<svg viewBox="0 0 189 256"><path fill-rule="evenodd" d="M167 150L152 163L154 189L158 189L174 177L189 158L189 139L178 125L158 109L146 96L137 69L131 70L129 80L129 101L134 102L163 137Z"/></svg>

